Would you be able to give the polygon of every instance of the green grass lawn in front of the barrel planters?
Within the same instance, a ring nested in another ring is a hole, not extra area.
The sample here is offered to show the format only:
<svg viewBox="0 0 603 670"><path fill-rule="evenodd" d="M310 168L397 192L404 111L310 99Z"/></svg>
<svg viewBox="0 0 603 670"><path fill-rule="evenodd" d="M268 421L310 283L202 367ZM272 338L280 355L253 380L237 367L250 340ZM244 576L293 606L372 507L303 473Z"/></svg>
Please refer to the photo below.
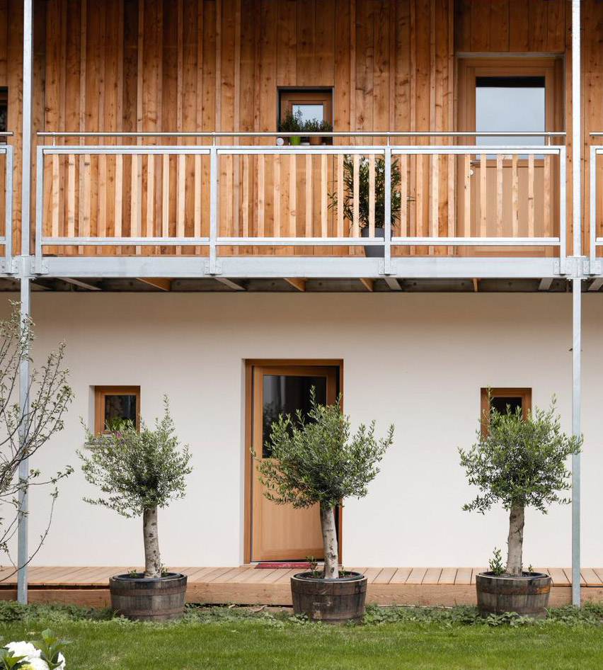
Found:
<svg viewBox="0 0 603 670"><path fill-rule="evenodd" d="M562 608L544 623L484 622L473 608L371 608L366 625L344 628L227 608L148 624L82 608L0 606L5 641L35 639L48 627L71 640L67 670L599 669L602 622L603 606Z"/></svg>

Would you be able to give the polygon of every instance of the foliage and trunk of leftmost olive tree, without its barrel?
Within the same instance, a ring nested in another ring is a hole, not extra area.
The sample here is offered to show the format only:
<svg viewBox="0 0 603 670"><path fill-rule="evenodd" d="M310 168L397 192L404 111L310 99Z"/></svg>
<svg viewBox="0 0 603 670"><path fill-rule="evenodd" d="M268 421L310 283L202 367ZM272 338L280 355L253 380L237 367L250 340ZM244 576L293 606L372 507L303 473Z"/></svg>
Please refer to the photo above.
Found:
<svg viewBox="0 0 603 670"><path fill-rule="evenodd" d="M185 477L192 471L188 446L180 450L167 397L163 402L155 430L142 419L140 430L132 421L113 422L108 433L97 436L86 428L89 453L78 451L86 481L105 494L84 500L126 518L142 515L144 577L161 577L157 509L184 496Z"/></svg>

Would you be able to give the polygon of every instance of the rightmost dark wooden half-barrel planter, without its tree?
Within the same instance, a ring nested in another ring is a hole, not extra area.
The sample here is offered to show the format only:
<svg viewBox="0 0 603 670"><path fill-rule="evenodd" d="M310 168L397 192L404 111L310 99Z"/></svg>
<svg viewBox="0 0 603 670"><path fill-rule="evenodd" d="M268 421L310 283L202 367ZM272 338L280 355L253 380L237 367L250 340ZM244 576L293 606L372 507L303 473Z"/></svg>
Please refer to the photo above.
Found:
<svg viewBox="0 0 603 670"><path fill-rule="evenodd" d="M478 610L488 614L517 614L545 617L551 592L551 577L544 572L524 573L524 577L481 572L476 576Z"/></svg>

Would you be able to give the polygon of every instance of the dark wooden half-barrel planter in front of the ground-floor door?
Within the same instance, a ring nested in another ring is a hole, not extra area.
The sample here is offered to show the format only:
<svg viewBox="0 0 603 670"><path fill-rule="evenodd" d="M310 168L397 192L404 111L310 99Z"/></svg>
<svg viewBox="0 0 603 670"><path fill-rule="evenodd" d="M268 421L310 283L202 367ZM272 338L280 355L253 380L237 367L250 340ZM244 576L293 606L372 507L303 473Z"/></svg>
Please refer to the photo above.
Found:
<svg viewBox="0 0 603 670"><path fill-rule="evenodd" d="M300 572L291 578L293 613L307 614L311 621L343 625L360 622L367 598L367 578L360 572L346 572L340 579L312 577Z"/></svg>

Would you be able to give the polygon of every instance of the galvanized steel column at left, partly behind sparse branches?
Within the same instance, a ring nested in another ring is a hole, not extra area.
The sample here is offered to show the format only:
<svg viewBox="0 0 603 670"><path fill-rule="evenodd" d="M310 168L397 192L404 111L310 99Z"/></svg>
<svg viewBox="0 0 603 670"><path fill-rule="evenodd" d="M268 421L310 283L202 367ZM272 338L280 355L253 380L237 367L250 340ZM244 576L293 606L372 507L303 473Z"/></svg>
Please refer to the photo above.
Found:
<svg viewBox="0 0 603 670"><path fill-rule="evenodd" d="M30 202L31 202L31 110L32 110L32 70L33 70L33 0L23 0L23 144L21 153L21 327L26 326L30 317ZM19 368L19 410L23 417L19 431L19 445L26 448L29 414L29 360L21 360ZM19 478L28 479L29 464L24 458L19 464ZM18 552L17 552L17 598L27 602L28 563L28 491L19 493Z"/></svg>

